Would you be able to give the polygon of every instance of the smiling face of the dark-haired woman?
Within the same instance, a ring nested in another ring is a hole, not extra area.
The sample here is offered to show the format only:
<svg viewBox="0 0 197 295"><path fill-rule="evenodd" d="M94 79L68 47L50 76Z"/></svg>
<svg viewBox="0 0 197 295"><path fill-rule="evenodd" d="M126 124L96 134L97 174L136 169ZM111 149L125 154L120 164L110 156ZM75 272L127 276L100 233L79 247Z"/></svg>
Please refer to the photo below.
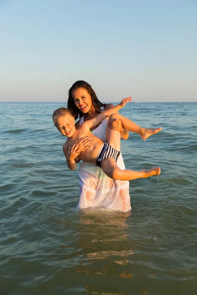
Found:
<svg viewBox="0 0 197 295"><path fill-rule="evenodd" d="M78 88L72 91L72 98L75 106L84 114L88 113L92 107L92 99L85 88Z"/></svg>

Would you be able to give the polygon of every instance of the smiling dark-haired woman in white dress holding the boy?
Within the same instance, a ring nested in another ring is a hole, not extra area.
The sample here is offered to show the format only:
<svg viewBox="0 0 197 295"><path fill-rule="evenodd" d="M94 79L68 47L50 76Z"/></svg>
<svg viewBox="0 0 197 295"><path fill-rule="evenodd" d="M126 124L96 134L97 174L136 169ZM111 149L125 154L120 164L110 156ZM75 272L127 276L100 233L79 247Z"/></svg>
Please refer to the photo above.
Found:
<svg viewBox="0 0 197 295"><path fill-rule="evenodd" d="M77 119L76 128L84 121L96 117L102 110L113 107L113 104L101 103L95 91L85 81L77 81L68 91L67 108L72 116ZM91 130L102 141L106 140L107 119ZM143 139L144 130L149 130L149 135L156 133L156 129L144 129L133 123L133 132L138 133ZM122 128L120 120L115 120L111 128L121 131L121 137L128 139L129 132ZM159 129L159 128L158 128ZM151 130L151 131L150 131ZM151 132L151 134L150 134ZM76 142L81 145L81 141ZM83 149L83 147L81 147ZM122 154L117 161L121 169L125 169ZM107 177L102 170L89 163L82 162L79 166L79 208L97 207L109 210L127 212L131 210L129 181L113 180Z"/></svg>

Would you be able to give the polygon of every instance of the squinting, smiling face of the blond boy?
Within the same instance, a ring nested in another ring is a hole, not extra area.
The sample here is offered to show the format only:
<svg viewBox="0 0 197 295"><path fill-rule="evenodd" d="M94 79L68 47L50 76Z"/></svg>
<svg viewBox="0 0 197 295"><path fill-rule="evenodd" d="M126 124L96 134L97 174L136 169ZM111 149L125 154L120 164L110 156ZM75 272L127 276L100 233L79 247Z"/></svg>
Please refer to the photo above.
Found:
<svg viewBox="0 0 197 295"><path fill-rule="evenodd" d="M74 117L64 116L58 119L57 129L66 137L71 137L76 131Z"/></svg>

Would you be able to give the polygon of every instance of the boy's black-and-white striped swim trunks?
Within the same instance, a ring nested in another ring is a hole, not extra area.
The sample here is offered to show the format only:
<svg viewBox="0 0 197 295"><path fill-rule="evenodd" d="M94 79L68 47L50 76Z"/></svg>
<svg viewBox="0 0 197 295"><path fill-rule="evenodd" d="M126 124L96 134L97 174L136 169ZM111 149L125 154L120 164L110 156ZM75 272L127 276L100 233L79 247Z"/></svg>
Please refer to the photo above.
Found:
<svg viewBox="0 0 197 295"><path fill-rule="evenodd" d="M113 158L117 162L119 155L120 150L112 148L110 144L108 144L108 142L105 141L99 152L96 165L101 167L100 163L102 162L102 160L106 158Z"/></svg>

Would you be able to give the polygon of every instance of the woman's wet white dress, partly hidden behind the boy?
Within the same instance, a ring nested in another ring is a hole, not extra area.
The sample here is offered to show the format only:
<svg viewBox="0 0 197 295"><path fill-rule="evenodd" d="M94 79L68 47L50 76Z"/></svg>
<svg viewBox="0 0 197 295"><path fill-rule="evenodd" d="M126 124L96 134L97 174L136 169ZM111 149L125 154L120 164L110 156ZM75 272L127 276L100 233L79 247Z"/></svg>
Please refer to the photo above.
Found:
<svg viewBox="0 0 197 295"><path fill-rule="evenodd" d="M84 117L80 118L82 124ZM92 132L103 142L106 140L107 119ZM117 161L125 169L122 154ZM90 163L82 162L79 166L79 208L104 208L127 212L131 210L129 181L113 180L107 177L102 169Z"/></svg>

